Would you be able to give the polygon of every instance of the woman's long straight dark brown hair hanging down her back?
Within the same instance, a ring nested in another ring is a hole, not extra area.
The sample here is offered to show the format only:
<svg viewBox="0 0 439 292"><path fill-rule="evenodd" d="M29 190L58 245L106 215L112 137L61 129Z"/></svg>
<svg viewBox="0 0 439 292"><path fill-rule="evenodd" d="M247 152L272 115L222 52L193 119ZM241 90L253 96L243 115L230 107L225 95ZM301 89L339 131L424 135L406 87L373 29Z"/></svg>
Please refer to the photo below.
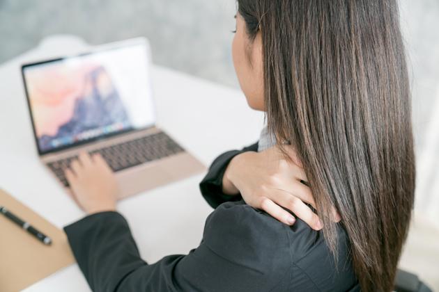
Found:
<svg viewBox="0 0 439 292"><path fill-rule="evenodd" d="M362 291L391 291L415 190L410 88L396 0L238 0L261 33L265 111L305 167L337 256L334 206Z"/></svg>

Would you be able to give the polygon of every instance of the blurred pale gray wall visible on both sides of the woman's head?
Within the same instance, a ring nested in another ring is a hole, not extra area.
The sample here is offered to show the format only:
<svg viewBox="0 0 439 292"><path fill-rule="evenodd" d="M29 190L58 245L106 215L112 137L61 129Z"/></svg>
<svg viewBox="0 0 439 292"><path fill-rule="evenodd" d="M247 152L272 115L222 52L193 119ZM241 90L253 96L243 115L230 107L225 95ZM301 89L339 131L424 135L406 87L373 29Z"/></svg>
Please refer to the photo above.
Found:
<svg viewBox="0 0 439 292"><path fill-rule="evenodd" d="M433 112L439 97L439 0L399 3L413 75L417 153L439 163L439 139L432 136L439 129L429 129L439 116ZM235 10L234 0L0 0L0 63L54 33L79 35L91 44L144 35L155 63L238 87L230 49ZM419 197L438 194L424 204L439 209L439 172L426 172L419 175Z"/></svg>

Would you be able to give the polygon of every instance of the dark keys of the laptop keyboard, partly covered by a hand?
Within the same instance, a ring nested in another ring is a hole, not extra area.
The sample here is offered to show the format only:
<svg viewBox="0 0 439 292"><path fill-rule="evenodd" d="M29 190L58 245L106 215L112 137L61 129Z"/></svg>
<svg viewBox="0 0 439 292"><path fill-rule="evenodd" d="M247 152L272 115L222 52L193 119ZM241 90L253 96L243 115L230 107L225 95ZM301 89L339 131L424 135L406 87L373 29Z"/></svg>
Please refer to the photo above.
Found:
<svg viewBox="0 0 439 292"><path fill-rule="evenodd" d="M102 149L93 150L90 154L100 153L114 172L131 168L136 165L155 161L173 154L183 152L184 149L174 142L166 133L155 133L125 143L111 145ZM52 163L47 163L64 186L69 186L64 170L77 156L68 157Z"/></svg>

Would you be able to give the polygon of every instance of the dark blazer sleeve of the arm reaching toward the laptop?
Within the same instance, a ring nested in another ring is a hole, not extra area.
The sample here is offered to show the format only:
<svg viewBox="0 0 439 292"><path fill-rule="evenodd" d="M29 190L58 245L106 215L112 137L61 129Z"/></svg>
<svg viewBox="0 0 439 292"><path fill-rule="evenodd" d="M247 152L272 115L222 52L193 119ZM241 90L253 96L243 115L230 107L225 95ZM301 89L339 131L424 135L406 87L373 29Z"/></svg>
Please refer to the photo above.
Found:
<svg viewBox="0 0 439 292"><path fill-rule="evenodd" d="M268 238L279 233L257 218L248 218L256 214L250 206L237 209L226 204L208 216L198 248L153 264L141 259L119 213L96 213L65 231L93 291L269 291L281 277L270 272L275 270L273 263L279 268L275 258L282 247Z"/></svg>

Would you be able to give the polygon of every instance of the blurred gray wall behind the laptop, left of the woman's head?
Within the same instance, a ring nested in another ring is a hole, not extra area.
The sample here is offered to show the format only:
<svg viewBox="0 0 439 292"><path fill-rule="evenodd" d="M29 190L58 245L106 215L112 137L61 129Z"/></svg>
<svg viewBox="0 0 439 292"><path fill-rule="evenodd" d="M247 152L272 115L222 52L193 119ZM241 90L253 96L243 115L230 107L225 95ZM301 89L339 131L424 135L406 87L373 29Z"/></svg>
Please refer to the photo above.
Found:
<svg viewBox="0 0 439 292"><path fill-rule="evenodd" d="M237 86L234 0L0 0L0 63L47 35L91 44L146 36L155 63Z"/></svg>

